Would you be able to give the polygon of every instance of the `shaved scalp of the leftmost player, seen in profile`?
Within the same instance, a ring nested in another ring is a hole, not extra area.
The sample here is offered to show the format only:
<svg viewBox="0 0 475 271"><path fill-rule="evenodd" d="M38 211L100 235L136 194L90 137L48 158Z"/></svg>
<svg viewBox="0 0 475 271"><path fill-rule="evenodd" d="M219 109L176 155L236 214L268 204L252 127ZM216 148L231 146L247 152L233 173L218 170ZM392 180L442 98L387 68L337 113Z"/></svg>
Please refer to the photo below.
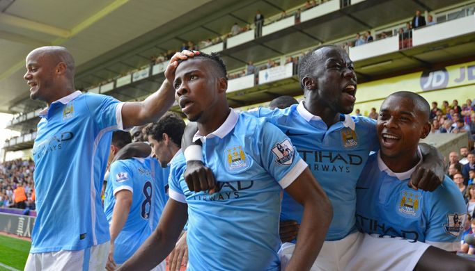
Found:
<svg viewBox="0 0 475 271"><path fill-rule="evenodd" d="M38 57L46 57L52 61L53 65L58 65L59 63L64 63L68 70L69 76L74 78L75 74L75 60L72 58L71 53L65 47L61 46L44 46L38 47L26 56L38 56Z"/></svg>

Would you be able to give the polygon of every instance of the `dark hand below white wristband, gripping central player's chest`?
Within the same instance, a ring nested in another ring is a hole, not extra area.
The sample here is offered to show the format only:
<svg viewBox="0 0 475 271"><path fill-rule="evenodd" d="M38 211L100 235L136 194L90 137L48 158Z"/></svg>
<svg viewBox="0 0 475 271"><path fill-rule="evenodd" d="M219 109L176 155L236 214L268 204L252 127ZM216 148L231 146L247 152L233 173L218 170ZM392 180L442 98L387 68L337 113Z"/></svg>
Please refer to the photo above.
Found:
<svg viewBox="0 0 475 271"><path fill-rule="evenodd" d="M209 167L206 167L201 161L188 161L185 170L185 181L188 189L194 192L208 190L209 194L217 192L218 187L215 176Z"/></svg>

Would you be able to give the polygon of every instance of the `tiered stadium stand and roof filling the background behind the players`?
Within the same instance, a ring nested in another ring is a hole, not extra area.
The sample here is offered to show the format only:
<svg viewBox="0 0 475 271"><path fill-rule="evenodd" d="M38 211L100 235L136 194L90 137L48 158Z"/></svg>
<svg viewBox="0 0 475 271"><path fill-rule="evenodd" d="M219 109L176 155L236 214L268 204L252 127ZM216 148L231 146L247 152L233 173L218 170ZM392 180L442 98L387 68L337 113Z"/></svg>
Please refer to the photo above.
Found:
<svg viewBox="0 0 475 271"><path fill-rule="evenodd" d="M466 133L463 145L473 149L475 1L203 0L191 6L184 0L173 4L106 1L103 6L90 3L89 9L67 1L63 5L77 8L83 17L68 11L51 22L46 18L57 15L52 6L47 7L49 10L40 6L25 9L20 1L7 2L10 5L2 6L0 1L1 16L8 18L0 22L8 26L0 33L0 40L9 42L6 48L15 54L0 58L0 90L6 93L0 112L15 114L7 128L22 135L5 142L3 159L8 151L33 146L38 112L45 104L27 97L22 65L27 51L50 43L62 44L78 56L75 83L79 90L121 101L141 100L155 91L175 51L219 52L229 71L229 104L239 110L265 106L280 95L302 99L297 76L300 58L320 44L338 44L355 62L359 80L355 110L369 115L371 108L379 108L382 100L397 90L417 92L439 105L444 100L458 99L460 112L453 102L445 108L435 105L432 133ZM188 8L180 14L166 15L177 11L173 6ZM160 14L154 12L160 8ZM86 15L93 9L95 14ZM433 24L413 28L411 21L417 9L423 10L426 18L433 17ZM42 13L35 16L32 10ZM259 35L254 24L257 10L265 17ZM139 13L143 18L137 18ZM166 19L153 19L160 15ZM27 18L23 24L18 23L20 17ZM74 18L71 22L70 17ZM239 29L231 33L236 21ZM48 24L52 27L38 30L38 26ZM121 30L127 27L130 29ZM26 38L30 33L31 38ZM361 34L358 46L355 33ZM21 44L20 49L14 49L17 44ZM19 61L22 65L17 64ZM177 104L171 110L180 113ZM457 119L460 124L444 126ZM468 156L458 147L450 151L456 151L460 160ZM448 159L448 152L446 156ZM33 170L32 161L0 164L0 207L15 207L14 190L21 184L26 207L34 209ZM475 197L470 194L469 179L473 177L465 180L467 202ZM465 228L469 230L469 226Z"/></svg>

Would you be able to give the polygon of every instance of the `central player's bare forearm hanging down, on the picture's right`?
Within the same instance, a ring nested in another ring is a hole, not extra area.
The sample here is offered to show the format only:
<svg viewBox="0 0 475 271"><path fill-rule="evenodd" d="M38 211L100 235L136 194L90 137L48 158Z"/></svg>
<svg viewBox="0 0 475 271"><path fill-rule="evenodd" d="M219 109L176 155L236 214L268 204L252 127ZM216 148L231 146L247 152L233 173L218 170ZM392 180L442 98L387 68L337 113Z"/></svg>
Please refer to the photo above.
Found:
<svg viewBox="0 0 475 271"><path fill-rule="evenodd" d="M286 270L310 270L320 253L333 217L332 204L323 195L304 202L295 250Z"/></svg>

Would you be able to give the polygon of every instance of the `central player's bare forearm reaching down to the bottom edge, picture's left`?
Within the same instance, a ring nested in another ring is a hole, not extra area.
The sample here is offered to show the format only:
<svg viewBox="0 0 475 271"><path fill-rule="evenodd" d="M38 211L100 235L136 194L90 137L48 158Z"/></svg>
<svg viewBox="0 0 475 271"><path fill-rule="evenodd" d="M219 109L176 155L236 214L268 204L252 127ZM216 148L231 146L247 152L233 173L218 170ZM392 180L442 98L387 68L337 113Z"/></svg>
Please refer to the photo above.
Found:
<svg viewBox="0 0 475 271"><path fill-rule="evenodd" d="M161 263L175 247L179 237L164 235L160 229L155 229L145 242L137 249L118 270L151 270Z"/></svg>

